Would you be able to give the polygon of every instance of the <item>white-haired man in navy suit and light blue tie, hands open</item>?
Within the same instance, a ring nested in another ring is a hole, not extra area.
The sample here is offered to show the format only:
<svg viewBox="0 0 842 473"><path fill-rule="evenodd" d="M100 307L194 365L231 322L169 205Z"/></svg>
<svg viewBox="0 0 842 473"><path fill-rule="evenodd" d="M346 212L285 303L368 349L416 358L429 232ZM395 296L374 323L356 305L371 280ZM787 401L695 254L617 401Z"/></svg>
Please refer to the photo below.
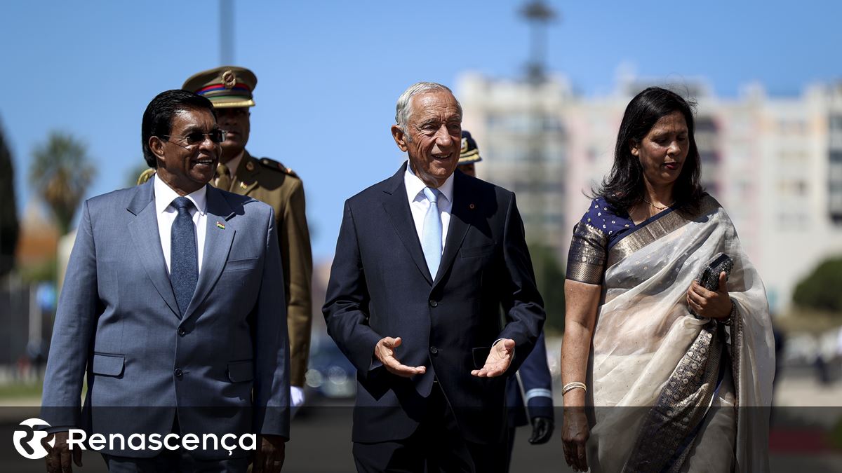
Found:
<svg viewBox="0 0 842 473"><path fill-rule="evenodd" d="M449 88L408 88L408 163L345 202L323 311L357 369L358 471L506 470L506 378L545 314L514 194L455 173L461 118Z"/></svg>

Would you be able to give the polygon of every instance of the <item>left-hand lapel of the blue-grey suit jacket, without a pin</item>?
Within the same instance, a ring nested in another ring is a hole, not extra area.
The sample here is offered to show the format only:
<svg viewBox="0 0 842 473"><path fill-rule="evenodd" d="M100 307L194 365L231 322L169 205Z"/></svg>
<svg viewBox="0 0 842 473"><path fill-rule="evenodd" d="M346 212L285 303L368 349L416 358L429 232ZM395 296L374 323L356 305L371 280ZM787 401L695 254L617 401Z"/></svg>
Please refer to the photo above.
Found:
<svg viewBox="0 0 842 473"><path fill-rule="evenodd" d="M153 179L147 181L136 189L131 203L126 208L135 219L129 223L129 234L137 248L137 254L141 259L147 276L152 280L158 294L167 302L170 310L175 316L180 317L179 305L175 301L173 285L169 282L167 274L167 263L163 258L161 249L161 235L158 233L157 215L155 215L155 196L152 186Z"/></svg>

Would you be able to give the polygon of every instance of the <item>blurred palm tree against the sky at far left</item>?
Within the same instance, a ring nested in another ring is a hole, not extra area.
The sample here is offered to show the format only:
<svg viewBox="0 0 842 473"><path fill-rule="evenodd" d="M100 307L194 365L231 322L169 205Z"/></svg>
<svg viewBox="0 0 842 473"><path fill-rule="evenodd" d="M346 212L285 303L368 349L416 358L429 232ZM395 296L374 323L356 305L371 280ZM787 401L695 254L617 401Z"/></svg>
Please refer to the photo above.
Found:
<svg viewBox="0 0 842 473"><path fill-rule="evenodd" d="M88 158L88 146L59 131L32 152L29 180L50 207L61 235L70 231L73 215L96 168Z"/></svg>

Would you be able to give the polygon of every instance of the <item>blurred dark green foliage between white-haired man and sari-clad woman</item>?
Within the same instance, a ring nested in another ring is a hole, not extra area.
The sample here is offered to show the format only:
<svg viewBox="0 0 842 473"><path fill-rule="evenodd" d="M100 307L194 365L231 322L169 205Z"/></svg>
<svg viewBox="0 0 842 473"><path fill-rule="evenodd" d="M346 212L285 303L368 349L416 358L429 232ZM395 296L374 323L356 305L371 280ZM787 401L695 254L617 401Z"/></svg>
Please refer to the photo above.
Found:
<svg viewBox="0 0 842 473"><path fill-rule="evenodd" d="M552 248L533 243L529 247L538 290L544 299L547 332L564 331L564 271Z"/></svg>

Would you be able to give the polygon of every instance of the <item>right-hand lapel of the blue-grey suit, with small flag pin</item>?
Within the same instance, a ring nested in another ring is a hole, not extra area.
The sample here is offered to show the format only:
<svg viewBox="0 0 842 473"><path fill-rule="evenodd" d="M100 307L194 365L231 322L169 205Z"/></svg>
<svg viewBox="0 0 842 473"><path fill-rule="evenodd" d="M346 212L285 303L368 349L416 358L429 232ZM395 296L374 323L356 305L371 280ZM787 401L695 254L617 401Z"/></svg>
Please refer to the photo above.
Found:
<svg viewBox="0 0 842 473"><path fill-rule="evenodd" d="M222 274L222 268L225 268L228 252L231 250L231 244L236 233L232 226L220 228L216 225L216 222L230 219L234 212L218 189L210 185L207 186L207 189L205 252L202 257L202 269L199 273L199 281L196 283L196 291L193 293L190 305L187 306L187 311L184 311L184 320L193 315L196 307L200 306L202 301L205 300L214 284L216 284L216 280Z"/></svg>

